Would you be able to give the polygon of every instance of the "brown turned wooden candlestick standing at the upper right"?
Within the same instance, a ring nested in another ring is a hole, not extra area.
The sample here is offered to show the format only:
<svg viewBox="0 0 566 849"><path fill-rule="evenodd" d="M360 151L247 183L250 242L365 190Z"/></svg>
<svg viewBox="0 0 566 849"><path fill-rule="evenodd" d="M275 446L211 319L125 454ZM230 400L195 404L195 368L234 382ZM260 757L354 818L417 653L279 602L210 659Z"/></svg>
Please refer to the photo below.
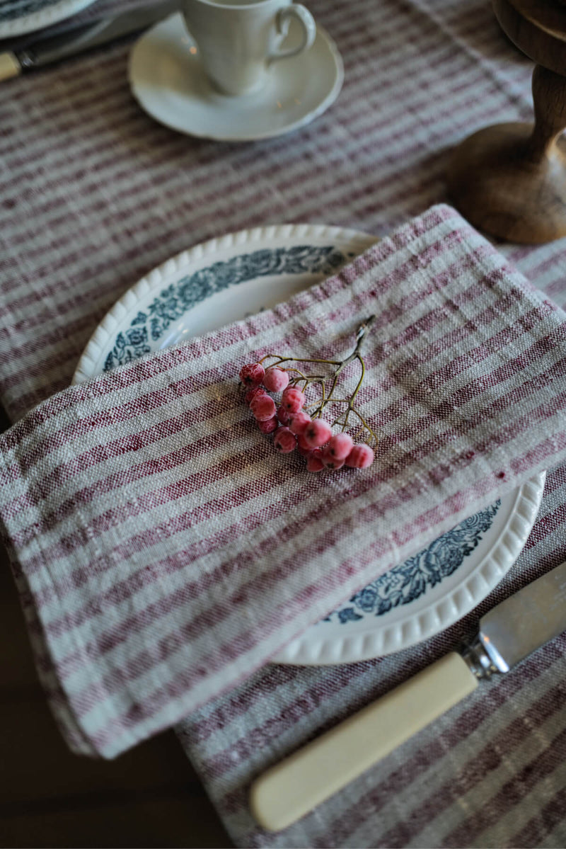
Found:
<svg viewBox="0 0 566 849"><path fill-rule="evenodd" d="M448 191L479 229L513 242L566 236L566 8L548 0L494 0L507 36L537 63L535 123L475 132L454 151Z"/></svg>

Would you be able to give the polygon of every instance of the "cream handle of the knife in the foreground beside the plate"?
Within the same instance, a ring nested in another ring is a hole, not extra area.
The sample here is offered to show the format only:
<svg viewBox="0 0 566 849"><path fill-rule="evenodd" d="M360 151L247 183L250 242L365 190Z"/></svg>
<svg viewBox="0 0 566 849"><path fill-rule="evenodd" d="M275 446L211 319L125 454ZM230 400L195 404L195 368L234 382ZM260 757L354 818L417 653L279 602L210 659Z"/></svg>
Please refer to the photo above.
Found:
<svg viewBox="0 0 566 849"><path fill-rule="evenodd" d="M250 790L255 820L269 831L287 828L477 685L461 655L445 655L255 779Z"/></svg>

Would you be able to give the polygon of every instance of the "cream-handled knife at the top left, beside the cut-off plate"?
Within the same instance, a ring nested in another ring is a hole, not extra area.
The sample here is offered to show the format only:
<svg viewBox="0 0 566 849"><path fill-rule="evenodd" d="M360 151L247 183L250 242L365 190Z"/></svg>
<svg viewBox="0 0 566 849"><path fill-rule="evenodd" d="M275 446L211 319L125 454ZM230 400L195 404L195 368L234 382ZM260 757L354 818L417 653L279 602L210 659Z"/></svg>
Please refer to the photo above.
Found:
<svg viewBox="0 0 566 849"><path fill-rule="evenodd" d="M113 17L73 25L64 31L38 33L11 50L0 53L0 82L19 76L24 71L36 70L141 32L177 12L180 2L160 0L159 3L139 6Z"/></svg>

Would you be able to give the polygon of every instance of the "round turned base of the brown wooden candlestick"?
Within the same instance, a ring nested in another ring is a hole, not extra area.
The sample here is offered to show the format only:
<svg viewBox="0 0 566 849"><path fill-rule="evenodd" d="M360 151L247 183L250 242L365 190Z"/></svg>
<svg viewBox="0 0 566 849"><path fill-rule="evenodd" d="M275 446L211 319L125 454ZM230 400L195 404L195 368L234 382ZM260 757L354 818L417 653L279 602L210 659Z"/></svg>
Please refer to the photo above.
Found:
<svg viewBox="0 0 566 849"><path fill-rule="evenodd" d="M533 130L485 127L457 147L447 172L451 200L474 227L530 245L566 236L566 139L538 153Z"/></svg>

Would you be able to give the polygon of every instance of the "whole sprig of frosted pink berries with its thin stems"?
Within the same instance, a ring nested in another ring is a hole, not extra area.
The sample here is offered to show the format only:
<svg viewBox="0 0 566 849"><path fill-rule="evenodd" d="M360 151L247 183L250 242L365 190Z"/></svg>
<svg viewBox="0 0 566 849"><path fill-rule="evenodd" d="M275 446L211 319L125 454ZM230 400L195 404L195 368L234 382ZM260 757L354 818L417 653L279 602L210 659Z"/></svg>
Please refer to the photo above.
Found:
<svg viewBox="0 0 566 849"><path fill-rule="evenodd" d="M311 472L322 469L367 469L373 463L373 447L366 442L354 444L350 434L346 433L350 414L358 419L377 444L377 436L369 427L361 413L356 409L355 400L365 375L365 363L361 357L361 343L371 328L375 316L371 316L357 330L356 347L344 360L301 359L300 357L279 357L268 354L259 363L249 363L240 369L240 380L246 387L245 401L262 433L271 434L273 446L279 453L288 454L295 449L306 458L306 468ZM267 360L274 360L264 366ZM357 360L361 365L361 375L356 388L346 398L334 393L338 385L340 372L348 363ZM330 375L305 374L297 365L281 368L283 363L322 363L333 367ZM305 391L310 385L318 385L321 391L319 400L307 404ZM277 407L269 392L281 392ZM329 404L342 404L345 408L332 424L322 419L322 410ZM314 407L312 413L306 408ZM339 433L333 433L333 427L340 427Z"/></svg>

